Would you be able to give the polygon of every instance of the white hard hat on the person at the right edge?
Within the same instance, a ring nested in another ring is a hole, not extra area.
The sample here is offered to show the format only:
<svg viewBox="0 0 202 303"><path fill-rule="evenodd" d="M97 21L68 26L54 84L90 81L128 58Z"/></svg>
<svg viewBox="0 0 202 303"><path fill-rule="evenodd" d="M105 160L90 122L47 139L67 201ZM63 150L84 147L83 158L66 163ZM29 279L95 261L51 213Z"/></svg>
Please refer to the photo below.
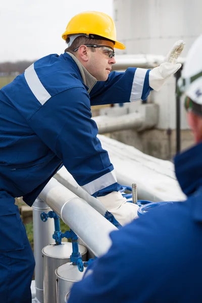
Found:
<svg viewBox="0 0 202 303"><path fill-rule="evenodd" d="M193 102L202 105L202 35L189 49L182 76L178 80L178 91L184 92Z"/></svg>

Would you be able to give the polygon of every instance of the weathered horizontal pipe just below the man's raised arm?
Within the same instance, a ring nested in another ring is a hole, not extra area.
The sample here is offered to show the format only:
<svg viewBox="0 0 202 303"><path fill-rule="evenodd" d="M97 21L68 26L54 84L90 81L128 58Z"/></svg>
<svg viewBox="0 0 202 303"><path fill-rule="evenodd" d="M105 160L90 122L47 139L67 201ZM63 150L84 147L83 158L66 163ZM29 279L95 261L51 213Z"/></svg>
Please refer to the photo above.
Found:
<svg viewBox="0 0 202 303"><path fill-rule="evenodd" d="M98 133L104 134L126 129L140 129L143 125L143 117L139 113L131 113L118 117L97 116L93 117L98 127ZM156 121L154 122L154 125ZM153 125L153 126L154 126Z"/></svg>

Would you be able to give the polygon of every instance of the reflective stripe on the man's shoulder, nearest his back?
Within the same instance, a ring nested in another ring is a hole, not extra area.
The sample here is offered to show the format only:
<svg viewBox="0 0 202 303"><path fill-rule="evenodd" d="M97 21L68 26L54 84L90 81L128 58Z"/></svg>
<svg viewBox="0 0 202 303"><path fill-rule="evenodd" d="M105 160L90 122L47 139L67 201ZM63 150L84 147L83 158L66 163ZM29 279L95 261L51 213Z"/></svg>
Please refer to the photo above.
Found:
<svg viewBox="0 0 202 303"><path fill-rule="evenodd" d="M34 63L25 70L25 80L41 105L51 98L35 72Z"/></svg>

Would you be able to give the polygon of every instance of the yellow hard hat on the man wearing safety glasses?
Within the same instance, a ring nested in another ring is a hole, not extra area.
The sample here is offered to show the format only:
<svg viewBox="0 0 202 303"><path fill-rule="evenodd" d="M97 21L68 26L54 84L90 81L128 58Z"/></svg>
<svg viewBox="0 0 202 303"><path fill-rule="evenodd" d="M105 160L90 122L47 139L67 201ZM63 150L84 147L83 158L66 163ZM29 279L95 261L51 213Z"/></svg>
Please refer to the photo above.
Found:
<svg viewBox="0 0 202 303"><path fill-rule="evenodd" d="M74 16L62 35L64 40L72 34L94 34L115 42L114 47L125 49L125 45L116 40L116 27L110 16L100 12L83 12Z"/></svg>

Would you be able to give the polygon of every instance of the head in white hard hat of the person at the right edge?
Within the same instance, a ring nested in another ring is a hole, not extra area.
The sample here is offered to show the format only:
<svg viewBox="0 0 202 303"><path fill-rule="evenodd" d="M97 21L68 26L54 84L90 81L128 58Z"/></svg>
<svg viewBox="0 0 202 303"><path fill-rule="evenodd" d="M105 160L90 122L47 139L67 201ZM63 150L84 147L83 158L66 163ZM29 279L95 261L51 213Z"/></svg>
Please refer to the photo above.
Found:
<svg viewBox="0 0 202 303"><path fill-rule="evenodd" d="M202 35L191 46L178 81L196 143L202 141Z"/></svg>

